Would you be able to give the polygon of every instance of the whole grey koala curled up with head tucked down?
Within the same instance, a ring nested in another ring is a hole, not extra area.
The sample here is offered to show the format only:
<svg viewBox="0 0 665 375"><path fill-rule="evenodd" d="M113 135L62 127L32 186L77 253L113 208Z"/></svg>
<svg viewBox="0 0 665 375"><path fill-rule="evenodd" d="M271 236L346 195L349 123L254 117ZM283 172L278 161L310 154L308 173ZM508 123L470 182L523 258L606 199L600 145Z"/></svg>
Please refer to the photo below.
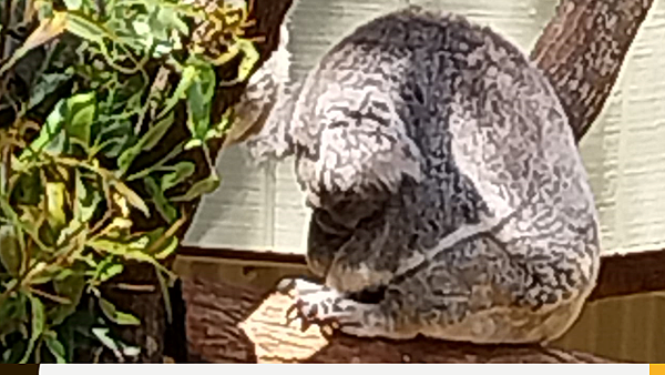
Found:
<svg viewBox="0 0 665 375"><path fill-rule="evenodd" d="M559 99L518 48L409 7L330 49L246 144L295 155L313 210L288 278L357 336L548 343L595 286L597 214Z"/></svg>

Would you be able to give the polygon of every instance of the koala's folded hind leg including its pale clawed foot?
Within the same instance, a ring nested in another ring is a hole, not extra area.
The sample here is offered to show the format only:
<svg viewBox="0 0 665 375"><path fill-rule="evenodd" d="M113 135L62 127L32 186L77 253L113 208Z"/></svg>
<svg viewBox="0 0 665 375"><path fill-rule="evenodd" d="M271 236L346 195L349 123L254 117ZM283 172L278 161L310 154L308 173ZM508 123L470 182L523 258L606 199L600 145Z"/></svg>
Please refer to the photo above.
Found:
<svg viewBox="0 0 665 375"><path fill-rule="evenodd" d="M570 327L593 285L576 284L567 272L579 268L575 257L535 259L478 236L395 276L377 301L299 278L280 287L296 295L306 324L332 324L355 336L546 343Z"/></svg>

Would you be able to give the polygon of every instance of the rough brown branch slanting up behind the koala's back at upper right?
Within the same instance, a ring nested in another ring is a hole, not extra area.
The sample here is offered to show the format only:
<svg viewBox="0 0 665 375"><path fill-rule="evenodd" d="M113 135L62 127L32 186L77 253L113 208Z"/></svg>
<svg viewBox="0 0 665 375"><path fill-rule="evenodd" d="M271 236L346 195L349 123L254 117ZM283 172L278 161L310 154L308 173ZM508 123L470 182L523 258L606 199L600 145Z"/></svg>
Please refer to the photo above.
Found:
<svg viewBox="0 0 665 375"><path fill-rule="evenodd" d="M577 141L603 109L652 3L564 0L531 52L557 91Z"/></svg>

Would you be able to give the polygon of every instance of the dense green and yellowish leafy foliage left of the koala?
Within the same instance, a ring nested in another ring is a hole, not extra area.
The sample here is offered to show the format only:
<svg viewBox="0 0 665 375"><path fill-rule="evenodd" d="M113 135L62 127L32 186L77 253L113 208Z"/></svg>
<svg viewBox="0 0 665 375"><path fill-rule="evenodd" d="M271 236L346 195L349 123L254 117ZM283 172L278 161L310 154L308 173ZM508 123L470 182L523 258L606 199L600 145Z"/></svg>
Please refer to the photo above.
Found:
<svg viewBox="0 0 665 375"><path fill-rule="evenodd" d="M239 58L243 81L256 62L247 9L6 0L0 14L3 45L32 30L0 65L0 362L72 362L83 338L135 356L112 328L141 322L102 286L127 262L152 264L163 287L173 278L162 261L177 247L183 204L219 182L209 159L177 159L195 148L207 156L229 126L211 120L225 84L216 68ZM227 37L217 55L192 40L201 22ZM160 148L178 111L188 135ZM212 172L193 181L201 169ZM137 230L137 215L161 224Z"/></svg>

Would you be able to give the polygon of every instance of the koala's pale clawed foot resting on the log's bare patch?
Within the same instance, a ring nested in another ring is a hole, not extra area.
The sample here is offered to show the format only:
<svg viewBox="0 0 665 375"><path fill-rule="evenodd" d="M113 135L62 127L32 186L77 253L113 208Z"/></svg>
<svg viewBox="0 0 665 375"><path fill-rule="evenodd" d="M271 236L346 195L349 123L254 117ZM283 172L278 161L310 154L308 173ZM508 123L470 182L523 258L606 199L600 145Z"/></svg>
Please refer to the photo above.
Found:
<svg viewBox="0 0 665 375"><path fill-rule="evenodd" d="M286 313L287 324L300 320L301 331L313 324L341 331L360 324L356 318L356 302L332 288L301 278L285 278L277 284L277 291L295 300Z"/></svg>

